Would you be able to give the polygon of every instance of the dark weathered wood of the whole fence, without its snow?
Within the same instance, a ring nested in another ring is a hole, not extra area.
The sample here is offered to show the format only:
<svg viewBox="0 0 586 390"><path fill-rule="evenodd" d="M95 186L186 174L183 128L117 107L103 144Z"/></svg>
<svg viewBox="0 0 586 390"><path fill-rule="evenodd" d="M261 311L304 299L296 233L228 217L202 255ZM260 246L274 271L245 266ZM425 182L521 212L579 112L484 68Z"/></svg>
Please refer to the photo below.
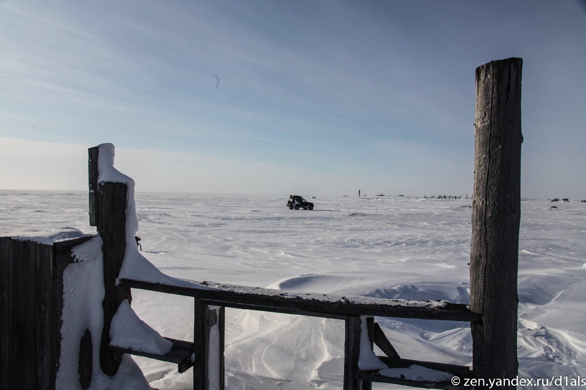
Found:
<svg viewBox="0 0 586 390"><path fill-rule="evenodd" d="M89 150L90 225L103 240L104 327L100 365L114 375L124 353L193 367L193 388L224 388L224 308L341 319L345 322L344 389L369 389L372 382L423 388L462 388L464 378L514 378L517 373L517 263L520 219L520 81L522 60L492 61L476 70L475 181L472 204L471 305L432 302L412 305L398 300L363 302L360 297L287 294L269 289L202 283L176 287L136 279L116 285L126 242L127 185L98 183L97 147ZM70 250L83 240L47 246L0 239L0 388L55 388L60 356L63 270ZM213 287L213 288L202 288ZM120 302L131 301L131 289L193 298L194 339L173 340L163 355L110 346L110 323ZM472 324L471 367L401 358L373 316L467 321ZM361 321L366 320L370 346L377 344L389 368L413 364L448 372L462 379L408 381L379 371L359 370ZM80 342L81 388L91 381L91 341ZM217 368L210 370L210 368ZM488 383L488 382L487 382Z"/></svg>

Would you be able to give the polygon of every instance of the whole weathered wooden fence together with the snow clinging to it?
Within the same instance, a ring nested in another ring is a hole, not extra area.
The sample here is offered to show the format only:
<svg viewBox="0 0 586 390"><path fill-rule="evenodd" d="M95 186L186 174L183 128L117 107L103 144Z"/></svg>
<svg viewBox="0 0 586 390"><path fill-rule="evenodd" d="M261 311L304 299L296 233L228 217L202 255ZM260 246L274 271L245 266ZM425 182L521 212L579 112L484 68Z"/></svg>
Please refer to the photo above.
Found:
<svg viewBox="0 0 586 390"><path fill-rule="evenodd" d="M102 144L89 150L88 171L98 234L0 237L0 389L149 388L125 354L170 361L179 372L193 367L194 389L223 389L225 307L344 320L345 390L372 382L462 388L454 375L514 378L521 66L509 58L476 70L470 308L168 277L134 245L134 181L113 167L114 146ZM142 322L131 288L192 297L194 339L162 337ZM401 358L373 316L471 322L473 369ZM386 356L374 354L374 343Z"/></svg>

